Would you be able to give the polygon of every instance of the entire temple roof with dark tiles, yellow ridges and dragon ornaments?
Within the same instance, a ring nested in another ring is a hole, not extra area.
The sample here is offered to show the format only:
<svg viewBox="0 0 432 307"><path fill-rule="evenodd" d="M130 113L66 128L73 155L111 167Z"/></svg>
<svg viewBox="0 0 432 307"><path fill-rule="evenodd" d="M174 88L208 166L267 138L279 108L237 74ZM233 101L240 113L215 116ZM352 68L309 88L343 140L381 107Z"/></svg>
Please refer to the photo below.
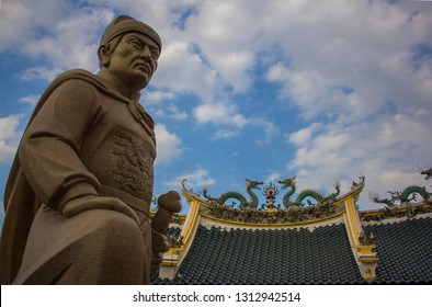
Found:
<svg viewBox="0 0 432 307"><path fill-rule="evenodd" d="M248 180L249 186L252 183L257 181ZM424 187L409 186L403 193L391 193L391 200L374 195L374 201L386 203L384 208L359 212L355 202L363 187L361 178L340 196L338 186L329 196L307 190L296 201L284 196L283 209L274 206L277 187L270 184L266 206L260 209L258 198L247 202L234 192L217 198L203 193L202 198L183 185L191 209L187 216L177 218L181 226L167 232L172 248L152 282L432 283L432 194ZM305 205L305 192L312 195L315 204ZM414 193L422 197L420 202ZM240 206L227 205L227 195Z"/></svg>

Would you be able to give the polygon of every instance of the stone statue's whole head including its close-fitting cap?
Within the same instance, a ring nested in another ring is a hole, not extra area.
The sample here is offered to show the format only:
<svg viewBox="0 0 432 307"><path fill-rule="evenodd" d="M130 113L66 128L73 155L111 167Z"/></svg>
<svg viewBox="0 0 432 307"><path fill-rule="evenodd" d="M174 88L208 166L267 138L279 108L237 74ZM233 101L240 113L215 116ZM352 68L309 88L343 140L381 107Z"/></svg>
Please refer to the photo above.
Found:
<svg viewBox="0 0 432 307"><path fill-rule="evenodd" d="M135 90L144 89L158 67L162 42L149 25L121 15L105 29L98 48L99 65Z"/></svg>

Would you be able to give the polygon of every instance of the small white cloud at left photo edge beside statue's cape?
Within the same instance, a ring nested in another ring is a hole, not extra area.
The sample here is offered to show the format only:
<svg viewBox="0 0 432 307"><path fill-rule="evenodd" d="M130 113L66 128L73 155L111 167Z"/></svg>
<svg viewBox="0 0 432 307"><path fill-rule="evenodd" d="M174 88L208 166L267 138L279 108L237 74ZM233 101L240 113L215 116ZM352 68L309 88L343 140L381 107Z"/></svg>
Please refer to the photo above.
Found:
<svg viewBox="0 0 432 307"><path fill-rule="evenodd" d="M19 130L21 115L0 117L0 161L10 163L15 156L22 132Z"/></svg>

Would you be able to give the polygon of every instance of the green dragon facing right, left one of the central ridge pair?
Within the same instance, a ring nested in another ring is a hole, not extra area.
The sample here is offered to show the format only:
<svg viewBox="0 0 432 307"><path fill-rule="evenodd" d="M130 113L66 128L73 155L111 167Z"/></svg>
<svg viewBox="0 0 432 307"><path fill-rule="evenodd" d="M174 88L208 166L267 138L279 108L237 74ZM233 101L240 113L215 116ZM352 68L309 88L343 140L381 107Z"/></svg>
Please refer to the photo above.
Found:
<svg viewBox="0 0 432 307"><path fill-rule="evenodd" d="M207 193L207 187L203 189L203 196L209 202L209 203L216 203L218 205L224 205L226 203L227 200L229 198L235 198L239 202L239 207L240 208L245 208L245 207L251 207L251 208L257 208L259 200L257 197L257 195L252 192L253 189L257 190L261 190L259 187L259 185L264 184L264 182L262 181L253 181L253 180L249 180L246 179L247 181L247 187L246 191L247 193L250 195L250 202L248 202L248 200L241 195L238 192L234 192L234 191L229 191L226 193L223 193L219 197L212 197L208 193Z"/></svg>

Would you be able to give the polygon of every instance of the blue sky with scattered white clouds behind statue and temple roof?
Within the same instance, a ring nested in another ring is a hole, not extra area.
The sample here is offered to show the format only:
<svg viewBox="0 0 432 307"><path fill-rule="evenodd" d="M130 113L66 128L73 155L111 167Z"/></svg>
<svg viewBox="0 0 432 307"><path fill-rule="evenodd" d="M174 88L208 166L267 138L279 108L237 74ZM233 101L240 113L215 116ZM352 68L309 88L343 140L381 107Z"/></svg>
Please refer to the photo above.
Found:
<svg viewBox="0 0 432 307"><path fill-rule="evenodd" d="M156 195L183 179L217 196L293 175L298 190L331 193L338 180L343 193L365 175L367 209L368 191L429 186L418 168L432 167L430 1L2 0L1 200L38 96L61 71L98 71L118 14L163 41L141 96L157 123Z"/></svg>

